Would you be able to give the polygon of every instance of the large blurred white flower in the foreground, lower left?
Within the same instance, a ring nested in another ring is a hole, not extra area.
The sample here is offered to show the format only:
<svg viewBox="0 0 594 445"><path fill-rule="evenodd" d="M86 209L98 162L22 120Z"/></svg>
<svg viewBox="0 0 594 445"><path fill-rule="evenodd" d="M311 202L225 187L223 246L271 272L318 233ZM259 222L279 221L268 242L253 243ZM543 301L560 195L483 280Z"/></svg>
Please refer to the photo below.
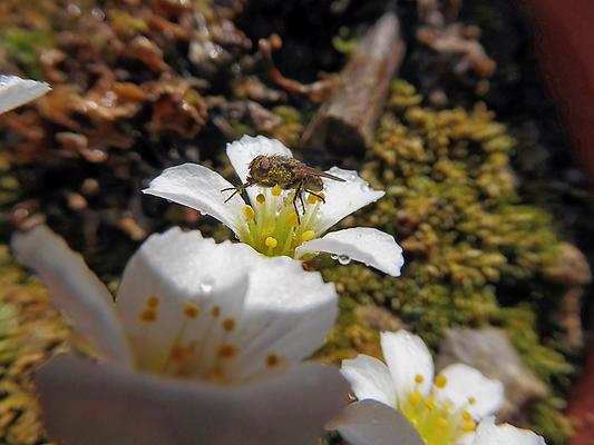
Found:
<svg viewBox="0 0 594 445"><path fill-rule="evenodd" d="M338 296L299 263L171 229L133 256L114 303L46 227L12 247L99 358L61 355L38 372L56 439L301 445L343 406L340 372L301 363L332 327Z"/></svg>

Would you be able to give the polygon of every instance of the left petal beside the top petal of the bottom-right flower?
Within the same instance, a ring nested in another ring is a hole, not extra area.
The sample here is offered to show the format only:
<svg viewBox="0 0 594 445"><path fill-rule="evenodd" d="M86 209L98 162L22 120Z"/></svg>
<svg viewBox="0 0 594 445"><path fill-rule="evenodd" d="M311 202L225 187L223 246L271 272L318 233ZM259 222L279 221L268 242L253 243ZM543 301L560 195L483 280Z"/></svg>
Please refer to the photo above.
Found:
<svg viewBox="0 0 594 445"><path fill-rule="evenodd" d="M342 360L341 372L351 383L359 400L373 399L396 408L392 376L383 362L359 354L352 360Z"/></svg>

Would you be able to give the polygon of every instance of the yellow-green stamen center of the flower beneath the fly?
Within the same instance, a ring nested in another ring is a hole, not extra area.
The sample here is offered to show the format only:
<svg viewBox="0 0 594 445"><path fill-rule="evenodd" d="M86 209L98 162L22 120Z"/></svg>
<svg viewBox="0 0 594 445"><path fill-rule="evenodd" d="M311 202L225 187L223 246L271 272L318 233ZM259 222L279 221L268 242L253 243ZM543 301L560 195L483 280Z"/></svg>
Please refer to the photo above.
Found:
<svg viewBox="0 0 594 445"><path fill-rule="evenodd" d="M317 194L324 197L323 194ZM295 248L321 236L317 231L322 199L309 195L293 200L295 191L283 192L279 186L262 188L252 206L244 206L240 240L270 257L294 257ZM301 205L303 202L303 206Z"/></svg>

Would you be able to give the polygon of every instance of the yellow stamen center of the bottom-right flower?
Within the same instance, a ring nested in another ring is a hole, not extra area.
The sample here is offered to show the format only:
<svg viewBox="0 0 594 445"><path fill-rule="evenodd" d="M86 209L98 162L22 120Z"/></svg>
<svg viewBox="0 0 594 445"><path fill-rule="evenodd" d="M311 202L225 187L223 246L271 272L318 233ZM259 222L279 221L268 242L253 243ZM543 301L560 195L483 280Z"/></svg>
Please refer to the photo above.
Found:
<svg viewBox="0 0 594 445"><path fill-rule="evenodd" d="M468 411L457 409L438 397L439 390L447 384L445 376L436 377L434 387L425 397L420 390L422 382L421 375L415 377L415 389L405 400L399 402L398 409L417 428L427 445L454 445L461 435L476 429L476 423ZM468 405L475 403L474 397L468 399Z"/></svg>

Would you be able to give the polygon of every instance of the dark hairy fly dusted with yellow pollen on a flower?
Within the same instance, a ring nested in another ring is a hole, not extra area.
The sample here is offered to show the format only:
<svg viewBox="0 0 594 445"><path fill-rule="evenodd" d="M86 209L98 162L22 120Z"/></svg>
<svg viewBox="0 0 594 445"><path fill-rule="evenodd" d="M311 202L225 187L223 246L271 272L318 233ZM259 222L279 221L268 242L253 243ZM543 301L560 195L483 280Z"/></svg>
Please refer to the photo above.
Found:
<svg viewBox="0 0 594 445"><path fill-rule="evenodd" d="M249 175L245 184L240 187L223 189L221 191L234 190L233 194L225 200L230 200L235 194L243 192L247 187L275 187L279 186L283 190L295 190L293 197L293 207L299 218L296 200L299 199L303 211L305 205L303 204L303 192L313 195L320 200L324 201L322 191L324 184L322 178L332 179L344 182L344 179L338 176L327 174L315 168L309 167L302 161L290 156L281 155L259 155L249 165Z"/></svg>

